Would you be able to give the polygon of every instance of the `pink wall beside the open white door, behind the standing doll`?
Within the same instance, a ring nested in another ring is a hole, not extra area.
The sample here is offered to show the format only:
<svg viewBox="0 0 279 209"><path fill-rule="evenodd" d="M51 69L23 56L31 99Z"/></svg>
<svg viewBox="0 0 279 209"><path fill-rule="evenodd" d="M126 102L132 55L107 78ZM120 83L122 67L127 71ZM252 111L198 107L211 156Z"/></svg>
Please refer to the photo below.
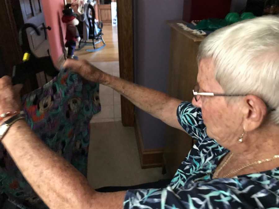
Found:
<svg viewBox="0 0 279 209"><path fill-rule="evenodd" d="M50 43L51 58L56 64L64 50L64 37L66 33L65 24L62 23L64 0L42 0L43 11L45 13L46 26L51 30L47 31Z"/></svg>

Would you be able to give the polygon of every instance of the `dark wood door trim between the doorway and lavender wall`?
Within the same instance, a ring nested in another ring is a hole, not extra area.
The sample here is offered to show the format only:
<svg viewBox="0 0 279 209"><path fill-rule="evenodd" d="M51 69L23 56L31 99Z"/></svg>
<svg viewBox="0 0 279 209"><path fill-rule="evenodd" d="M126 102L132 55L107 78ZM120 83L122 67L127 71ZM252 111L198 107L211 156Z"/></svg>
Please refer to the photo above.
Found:
<svg viewBox="0 0 279 209"><path fill-rule="evenodd" d="M134 82L133 0L117 2L120 77ZM121 96L122 124L134 126L134 105Z"/></svg>

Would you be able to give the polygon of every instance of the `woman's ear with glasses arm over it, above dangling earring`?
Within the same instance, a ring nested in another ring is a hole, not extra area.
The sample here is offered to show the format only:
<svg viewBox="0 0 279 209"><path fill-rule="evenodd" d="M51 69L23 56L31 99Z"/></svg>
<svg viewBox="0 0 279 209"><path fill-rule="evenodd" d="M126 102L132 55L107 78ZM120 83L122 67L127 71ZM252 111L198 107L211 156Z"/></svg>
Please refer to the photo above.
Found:
<svg viewBox="0 0 279 209"><path fill-rule="evenodd" d="M255 95L247 95L244 99L243 128L244 131L253 131L261 126L267 115L267 107L262 99Z"/></svg>

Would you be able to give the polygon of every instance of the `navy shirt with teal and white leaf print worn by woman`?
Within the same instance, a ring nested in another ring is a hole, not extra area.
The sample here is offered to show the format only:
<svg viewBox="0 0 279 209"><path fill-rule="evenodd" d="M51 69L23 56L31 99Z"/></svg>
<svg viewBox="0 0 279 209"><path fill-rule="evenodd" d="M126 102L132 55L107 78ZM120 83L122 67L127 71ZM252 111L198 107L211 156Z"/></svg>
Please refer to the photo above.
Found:
<svg viewBox="0 0 279 209"><path fill-rule="evenodd" d="M167 188L128 190L124 208L279 208L279 168L212 179L229 150L206 135L199 108L183 102L177 117L197 143Z"/></svg>

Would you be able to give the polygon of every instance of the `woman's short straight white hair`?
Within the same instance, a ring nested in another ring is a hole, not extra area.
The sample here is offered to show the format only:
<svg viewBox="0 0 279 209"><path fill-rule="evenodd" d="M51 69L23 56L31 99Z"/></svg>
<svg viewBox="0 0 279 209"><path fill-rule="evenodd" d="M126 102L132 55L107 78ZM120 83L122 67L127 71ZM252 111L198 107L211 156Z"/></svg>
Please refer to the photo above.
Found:
<svg viewBox="0 0 279 209"><path fill-rule="evenodd" d="M212 58L226 94L253 94L279 124L279 18L262 16L221 28L202 41L198 63Z"/></svg>

